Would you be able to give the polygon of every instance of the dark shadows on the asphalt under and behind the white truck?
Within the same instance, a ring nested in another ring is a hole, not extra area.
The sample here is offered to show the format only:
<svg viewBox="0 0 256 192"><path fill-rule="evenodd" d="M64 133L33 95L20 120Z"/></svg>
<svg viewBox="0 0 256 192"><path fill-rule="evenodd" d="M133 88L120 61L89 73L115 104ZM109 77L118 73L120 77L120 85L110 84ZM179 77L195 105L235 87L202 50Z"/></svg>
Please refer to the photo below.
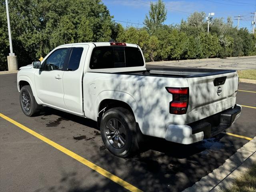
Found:
<svg viewBox="0 0 256 192"><path fill-rule="evenodd" d="M93 120L50 108L47 108L41 115L52 114L92 129L98 129ZM90 156L89 159L86 152L79 155L141 190L175 192L192 186L200 178L222 165L236 151L232 146L232 140L222 141L223 136L224 134L219 139L211 138L190 145L176 144L161 138L146 136L145 142L140 144L140 153L130 158L118 158L106 148L99 150L99 144L91 140L92 150L98 153ZM62 177L63 179L56 186L47 188L46 191L55 192L60 189L68 192L125 191L124 188L107 178L103 178L101 184L88 186L85 184L85 179L80 178L78 174L63 173Z"/></svg>

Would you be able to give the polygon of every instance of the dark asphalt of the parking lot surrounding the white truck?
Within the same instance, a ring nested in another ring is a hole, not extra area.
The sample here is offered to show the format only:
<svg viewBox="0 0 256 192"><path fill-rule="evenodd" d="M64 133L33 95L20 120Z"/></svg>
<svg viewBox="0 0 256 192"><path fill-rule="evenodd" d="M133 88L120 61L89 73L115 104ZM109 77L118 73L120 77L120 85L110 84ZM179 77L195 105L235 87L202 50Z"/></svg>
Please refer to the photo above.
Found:
<svg viewBox="0 0 256 192"><path fill-rule="evenodd" d="M220 140L187 146L148 138L142 152L118 158L106 150L96 122L45 108L36 117L23 114L16 74L0 75L0 113L110 172L143 191L182 191L222 165L256 136L256 85L240 83L242 114ZM250 108L252 107L252 108ZM126 191L110 180L22 128L0 118L0 191ZM240 138L245 136L246 138ZM115 180L115 178L114 178ZM123 185L122 185L123 184Z"/></svg>

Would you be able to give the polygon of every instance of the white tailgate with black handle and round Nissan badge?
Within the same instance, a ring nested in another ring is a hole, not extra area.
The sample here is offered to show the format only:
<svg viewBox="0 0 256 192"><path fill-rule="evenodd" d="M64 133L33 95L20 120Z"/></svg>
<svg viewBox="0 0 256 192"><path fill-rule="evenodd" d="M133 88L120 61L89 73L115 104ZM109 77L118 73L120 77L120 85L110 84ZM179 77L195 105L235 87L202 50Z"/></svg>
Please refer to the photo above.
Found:
<svg viewBox="0 0 256 192"><path fill-rule="evenodd" d="M236 103L238 74L224 74L187 78L189 85L189 104L187 122L206 118Z"/></svg>

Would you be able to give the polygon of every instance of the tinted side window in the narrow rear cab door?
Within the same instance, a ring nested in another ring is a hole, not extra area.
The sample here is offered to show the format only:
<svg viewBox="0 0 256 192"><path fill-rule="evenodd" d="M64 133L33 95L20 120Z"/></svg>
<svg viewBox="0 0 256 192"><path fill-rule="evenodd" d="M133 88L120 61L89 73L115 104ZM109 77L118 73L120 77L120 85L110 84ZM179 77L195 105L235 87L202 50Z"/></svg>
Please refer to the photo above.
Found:
<svg viewBox="0 0 256 192"><path fill-rule="evenodd" d="M84 48L82 47L72 48L72 52L68 61L68 71L74 71L78 69L83 50Z"/></svg>

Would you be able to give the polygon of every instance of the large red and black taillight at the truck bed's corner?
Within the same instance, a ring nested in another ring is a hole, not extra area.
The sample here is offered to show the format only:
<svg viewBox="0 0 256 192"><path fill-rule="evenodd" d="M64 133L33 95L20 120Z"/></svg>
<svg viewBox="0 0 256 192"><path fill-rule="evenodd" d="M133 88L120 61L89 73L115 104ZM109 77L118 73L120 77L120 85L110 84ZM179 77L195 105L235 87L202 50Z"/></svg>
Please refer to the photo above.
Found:
<svg viewBox="0 0 256 192"><path fill-rule="evenodd" d="M166 90L172 94L172 101L170 102L170 113L176 115L186 114L188 110L188 87L186 88L172 88L166 87Z"/></svg>

